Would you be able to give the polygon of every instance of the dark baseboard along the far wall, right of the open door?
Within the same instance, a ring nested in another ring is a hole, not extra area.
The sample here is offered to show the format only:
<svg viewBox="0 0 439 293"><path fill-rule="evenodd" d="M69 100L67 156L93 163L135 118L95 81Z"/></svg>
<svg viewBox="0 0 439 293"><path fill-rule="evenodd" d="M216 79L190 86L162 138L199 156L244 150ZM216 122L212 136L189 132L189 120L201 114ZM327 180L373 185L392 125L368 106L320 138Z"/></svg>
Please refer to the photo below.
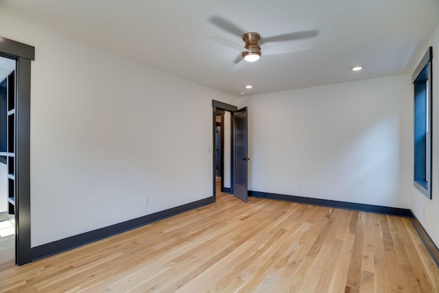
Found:
<svg viewBox="0 0 439 293"><path fill-rule="evenodd" d="M304 198L302 196L286 196L284 194L270 194L268 192L260 191L248 191L248 195L255 198L270 198L272 200L285 200L288 202L314 204L323 207L352 209L355 211L368 211L370 213L382 213L385 215L398 215L400 217L413 218L413 213L410 211L410 209L399 209L396 207L383 207L373 204L359 204L355 202L341 202L337 200L322 200L320 198Z"/></svg>

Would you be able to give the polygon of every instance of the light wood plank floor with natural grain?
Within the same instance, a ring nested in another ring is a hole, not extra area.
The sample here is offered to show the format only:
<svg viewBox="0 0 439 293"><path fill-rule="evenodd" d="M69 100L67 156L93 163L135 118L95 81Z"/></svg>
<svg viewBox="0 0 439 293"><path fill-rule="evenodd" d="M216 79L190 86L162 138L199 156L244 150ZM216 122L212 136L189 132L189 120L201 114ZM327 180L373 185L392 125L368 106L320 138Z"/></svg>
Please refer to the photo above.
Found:
<svg viewBox="0 0 439 293"><path fill-rule="evenodd" d="M439 292L439 270L409 219L222 194L0 272L0 292L107 291Z"/></svg>

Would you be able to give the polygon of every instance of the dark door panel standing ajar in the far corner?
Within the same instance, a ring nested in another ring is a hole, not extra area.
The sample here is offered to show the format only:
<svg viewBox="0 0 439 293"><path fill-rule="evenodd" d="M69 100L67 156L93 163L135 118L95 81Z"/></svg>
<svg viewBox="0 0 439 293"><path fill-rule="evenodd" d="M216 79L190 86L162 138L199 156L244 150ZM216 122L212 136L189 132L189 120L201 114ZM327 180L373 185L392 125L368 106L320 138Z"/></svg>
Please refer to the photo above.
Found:
<svg viewBox="0 0 439 293"><path fill-rule="evenodd" d="M247 107L233 113L233 138L235 180L233 194L247 202L248 200L248 154L247 154Z"/></svg>

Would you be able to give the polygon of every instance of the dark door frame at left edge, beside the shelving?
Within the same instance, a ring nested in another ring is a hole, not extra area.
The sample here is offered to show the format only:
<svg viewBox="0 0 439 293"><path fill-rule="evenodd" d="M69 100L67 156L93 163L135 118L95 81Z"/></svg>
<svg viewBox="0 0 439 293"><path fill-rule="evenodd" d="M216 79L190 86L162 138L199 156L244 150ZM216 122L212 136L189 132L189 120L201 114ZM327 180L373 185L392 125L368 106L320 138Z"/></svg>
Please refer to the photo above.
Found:
<svg viewBox="0 0 439 293"><path fill-rule="evenodd" d="M30 70L35 47L0 36L0 56L16 60L15 263L32 261L30 231Z"/></svg>

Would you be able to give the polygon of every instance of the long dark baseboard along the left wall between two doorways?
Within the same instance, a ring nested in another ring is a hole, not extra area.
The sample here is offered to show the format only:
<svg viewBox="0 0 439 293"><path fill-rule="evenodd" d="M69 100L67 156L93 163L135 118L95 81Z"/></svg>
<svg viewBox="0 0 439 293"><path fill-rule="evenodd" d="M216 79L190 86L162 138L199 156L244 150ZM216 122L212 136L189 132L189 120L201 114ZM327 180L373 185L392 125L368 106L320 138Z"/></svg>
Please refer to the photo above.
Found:
<svg viewBox="0 0 439 293"><path fill-rule="evenodd" d="M130 231L134 228L139 228L146 224L152 222L157 222L165 218L178 215L179 213L184 213L192 209L197 209L203 207L207 204L215 202L215 197L211 196L209 198L204 198L202 200L197 200L195 202L189 202L188 204L183 204L179 207L174 207L172 209L167 209L165 211L158 211L157 213L152 213L151 215L145 215L140 218L133 220L128 220L126 222L121 222L111 226L106 226L104 228L99 228L86 233L74 235L64 239L57 240L55 242L50 242L48 244L43 244L40 246L33 247L31 250L32 261L38 259L43 259L51 255L56 255L73 248L89 244L91 242L96 242L98 240L117 235L126 231Z"/></svg>

